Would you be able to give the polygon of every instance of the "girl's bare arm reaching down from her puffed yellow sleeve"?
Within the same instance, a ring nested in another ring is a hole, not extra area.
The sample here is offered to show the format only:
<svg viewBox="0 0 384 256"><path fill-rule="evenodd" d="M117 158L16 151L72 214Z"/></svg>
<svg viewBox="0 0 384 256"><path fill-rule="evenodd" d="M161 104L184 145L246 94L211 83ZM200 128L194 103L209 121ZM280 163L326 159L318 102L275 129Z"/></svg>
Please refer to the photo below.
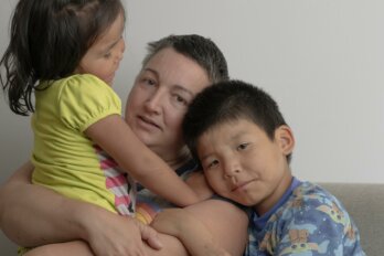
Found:
<svg viewBox="0 0 384 256"><path fill-rule="evenodd" d="M90 125L85 134L153 193L179 206L199 201L193 190L136 137L120 116L107 116Z"/></svg>

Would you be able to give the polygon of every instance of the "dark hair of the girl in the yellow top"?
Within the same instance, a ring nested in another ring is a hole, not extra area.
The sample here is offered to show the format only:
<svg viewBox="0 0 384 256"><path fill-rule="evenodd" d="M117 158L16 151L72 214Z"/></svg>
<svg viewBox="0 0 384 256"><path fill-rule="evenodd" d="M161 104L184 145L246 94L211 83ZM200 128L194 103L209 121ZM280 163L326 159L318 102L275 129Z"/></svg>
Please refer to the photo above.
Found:
<svg viewBox="0 0 384 256"><path fill-rule="evenodd" d="M39 81L66 77L119 13L120 0L20 0L0 82L12 111L26 116Z"/></svg>

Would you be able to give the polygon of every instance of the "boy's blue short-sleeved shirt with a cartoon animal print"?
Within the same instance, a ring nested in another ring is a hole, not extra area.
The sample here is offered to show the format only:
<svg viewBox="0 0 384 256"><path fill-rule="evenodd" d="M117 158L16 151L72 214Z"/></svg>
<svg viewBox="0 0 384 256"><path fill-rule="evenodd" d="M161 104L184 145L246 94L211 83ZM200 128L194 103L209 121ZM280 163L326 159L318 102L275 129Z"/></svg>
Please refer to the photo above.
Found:
<svg viewBox="0 0 384 256"><path fill-rule="evenodd" d="M256 237L257 250L273 254L364 255L359 231L343 205L311 182L295 188Z"/></svg>

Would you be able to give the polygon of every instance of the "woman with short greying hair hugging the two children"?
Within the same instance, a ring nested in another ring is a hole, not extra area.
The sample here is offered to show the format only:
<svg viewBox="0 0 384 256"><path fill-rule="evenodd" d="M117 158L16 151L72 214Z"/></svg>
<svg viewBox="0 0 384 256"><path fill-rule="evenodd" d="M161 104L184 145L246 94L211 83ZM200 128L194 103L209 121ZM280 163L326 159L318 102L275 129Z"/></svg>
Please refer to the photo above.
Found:
<svg viewBox="0 0 384 256"><path fill-rule="evenodd" d="M126 105L126 121L138 138L181 177L190 175L188 182L204 198L211 192L199 173L191 174L196 167L182 140L181 122L188 105L199 92L227 78L226 61L211 40L199 35L167 36L149 44L149 54ZM89 246L95 255L103 256L186 255L177 238L161 234L162 249L152 249L143 243L146 254L131 252L132 246L127 243L131 239L127 237L135 234L127 226L135 224L129 218L32 185L32 170L31 163L25 163L0 192L1 230L15 243L40 246L76 241L70 243L74 247ZM218 200L204 201L189 210L209 226L221 246L232 255L242 254L247 217L241 210ZM140 228L137 232L156 247L156 236L150 228ZM36 255L50 249L60 252L61 246L63 244L40 247L34 252L41 249Z"/></svg>

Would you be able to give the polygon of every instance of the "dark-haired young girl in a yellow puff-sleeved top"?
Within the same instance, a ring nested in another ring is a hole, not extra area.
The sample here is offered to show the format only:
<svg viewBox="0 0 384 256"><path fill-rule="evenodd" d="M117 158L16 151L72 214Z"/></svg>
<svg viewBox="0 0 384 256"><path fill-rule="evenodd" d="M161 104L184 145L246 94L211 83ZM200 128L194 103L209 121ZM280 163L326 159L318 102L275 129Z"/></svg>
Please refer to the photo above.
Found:
<svg viewBox="0 0 384 256"><path fill-rule="evenodd" d="M177 205L192 204L194 192L120 117L110 86L124 26L119 0L19 1L1 84L14 113L34 111L32 180L121 215L135 212L134 180Z"/></svg>

